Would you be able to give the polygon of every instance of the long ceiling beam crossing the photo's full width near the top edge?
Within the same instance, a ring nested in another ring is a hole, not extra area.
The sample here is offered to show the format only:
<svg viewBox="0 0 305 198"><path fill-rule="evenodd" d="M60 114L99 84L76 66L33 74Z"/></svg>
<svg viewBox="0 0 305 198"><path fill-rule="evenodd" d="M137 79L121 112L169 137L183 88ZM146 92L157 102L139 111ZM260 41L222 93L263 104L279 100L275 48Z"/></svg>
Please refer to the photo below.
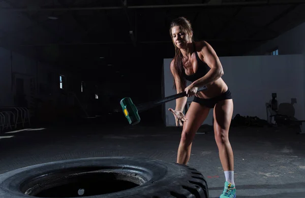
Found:
<svg viewBox="0 0 305 198"><path fill-rule="evenodd" d="M127 9L153 9L153 8L187 8L187 7L225 7L225 6L268 6L268 5L292 5L305 4L303 0L265 0L258 2L223 2L221 4L172 4L172 5L148 5L148 6L127 6ZM29 12L29 11L81 11L81 10L115 10L124 9L124 6L112 7L70 7L70 8L0 8L3 12Z"/></svg>

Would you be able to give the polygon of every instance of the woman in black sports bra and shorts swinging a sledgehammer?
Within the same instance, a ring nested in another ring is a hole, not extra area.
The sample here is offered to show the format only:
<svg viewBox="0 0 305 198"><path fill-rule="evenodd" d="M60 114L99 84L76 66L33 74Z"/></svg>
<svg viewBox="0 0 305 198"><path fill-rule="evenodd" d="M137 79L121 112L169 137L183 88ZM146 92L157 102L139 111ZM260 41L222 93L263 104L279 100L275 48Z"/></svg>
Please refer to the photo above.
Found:
<svg viewBox="0 0 305 198"><path fill-rule="evenodd" d="M177 163L188 163L193 138L209 110L214 108L215 140L226 177L225 188L220 197L235 197L233 151L228 138L233 101L228 86L221 78L224 74L221 62L208 43L193 42L192 26L186 18L179 17L171 22L170 35L175 46L175 57L170 64L174 89L177 93L186 91L188 97L194 96L186 115L182 112L187 97L176 99L175 110L169 108L175 116L176 126L179 123L183 127ZM192 82L188 87L187 81ZM196 93L203 86L207 89Z"/></svg>

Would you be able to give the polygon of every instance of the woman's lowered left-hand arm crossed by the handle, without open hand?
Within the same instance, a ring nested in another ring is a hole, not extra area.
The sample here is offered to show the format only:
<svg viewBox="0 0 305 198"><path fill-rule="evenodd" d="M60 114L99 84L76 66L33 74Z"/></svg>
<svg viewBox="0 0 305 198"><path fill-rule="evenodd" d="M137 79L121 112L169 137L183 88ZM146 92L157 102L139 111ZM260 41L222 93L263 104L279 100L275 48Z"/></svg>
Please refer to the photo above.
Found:
<svg viewBox="0 0 305 198"><path fill-rule="evenodd" d="M186 86L185 85L181 85L181 81L180 81L180 77L176 72L176 69L174 67L174 59L171 61L170 63L170 70L174 76L174 80L175 80L175 85L176 85L176 90L177 90L177 94L184 92ZM181 97L176 99L176 107L175 110L176 111L183 111L184 107L187 103L188 98L187 97Z"/></svg>

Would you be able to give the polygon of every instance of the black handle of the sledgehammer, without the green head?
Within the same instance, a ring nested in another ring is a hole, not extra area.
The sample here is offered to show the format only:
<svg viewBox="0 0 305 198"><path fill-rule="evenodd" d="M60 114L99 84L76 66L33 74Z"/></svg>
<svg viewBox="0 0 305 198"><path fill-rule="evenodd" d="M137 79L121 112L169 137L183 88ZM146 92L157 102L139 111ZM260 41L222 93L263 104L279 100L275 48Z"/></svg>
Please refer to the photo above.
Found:
<svg viewBox="0 0 305 198"><path fill-rule="evenodd" d="M207 89L206 86L200 87L200 88L198 88L197 93L201 92L203 90L206 90L206 89ZM175 94L175 95L172 95L172 96L168 96L168 97L165 97L165 98L162 98L162 99L159 99L159 100L155 100L155 101L152 101L152 102L147 102L147 103L144 103L144 104L139 104L139 105L137 105L137 109L138 109L138 112L141 112L141 111L144 111L146 109L158 106L159 104L163 104L163 103L166 103L168 101L172 101L172 100L175 100L177 98L182 98L182 97L185 97L185 96L187 96L187 92L186 91L178 93L178 94Z"/></svg>

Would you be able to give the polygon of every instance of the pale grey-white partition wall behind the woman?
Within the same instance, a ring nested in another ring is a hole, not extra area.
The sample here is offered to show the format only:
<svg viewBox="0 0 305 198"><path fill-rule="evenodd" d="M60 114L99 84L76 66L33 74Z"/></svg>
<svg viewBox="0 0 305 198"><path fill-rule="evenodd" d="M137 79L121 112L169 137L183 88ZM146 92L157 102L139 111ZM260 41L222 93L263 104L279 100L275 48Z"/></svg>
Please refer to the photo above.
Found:
<svg viewBox="0 0 305 198"><path fill-rule="evenodd" d="M233 118L239 113L266 120L265 103L271 99L271 93L277 93L279 103L296 98L295 117L299 120L305 118L302 55L220 57L220 60L224 68L223 79L233 96ZM175 94L170 61L164 59L164 97ZM175 101L166 103L164 110L165 125L175 126L174 116L168 108L174 109ZM203 124L212 124L212 111Z"/></svg>

